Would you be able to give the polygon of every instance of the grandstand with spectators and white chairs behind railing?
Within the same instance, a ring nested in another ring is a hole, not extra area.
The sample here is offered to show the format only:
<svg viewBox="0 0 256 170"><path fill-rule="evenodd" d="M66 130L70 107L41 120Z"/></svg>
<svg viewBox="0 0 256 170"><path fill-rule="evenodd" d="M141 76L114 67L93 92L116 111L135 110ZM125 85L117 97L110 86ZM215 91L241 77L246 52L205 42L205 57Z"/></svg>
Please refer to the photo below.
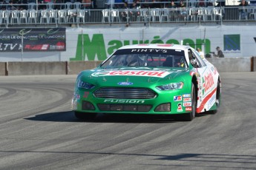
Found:
<svg viewBox="0 0 256 170"><path fill-rule="evenodd" d="M228 4L229 1L226 1ZM256 7L225 5L224 1L134 1L125 3L36 3L0 4L1 27L79 26L88 24L216 23L246 21L255 23ZM202 4L203 3L203 4ZM238 2L237 2L238 3ZM103 7L100 8L99 7Z"/></svg>

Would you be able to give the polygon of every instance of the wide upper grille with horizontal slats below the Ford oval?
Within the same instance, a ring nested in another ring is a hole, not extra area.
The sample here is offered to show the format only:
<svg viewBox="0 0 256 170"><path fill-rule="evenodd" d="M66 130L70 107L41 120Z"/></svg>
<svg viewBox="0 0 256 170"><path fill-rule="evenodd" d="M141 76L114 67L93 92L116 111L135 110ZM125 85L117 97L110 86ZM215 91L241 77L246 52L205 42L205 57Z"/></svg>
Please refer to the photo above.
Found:
<svg viewBox="0 0 256 170"><path fill-rule="evenodd" d="M100 88L93 95L96 98L149 99L157 94L146 88Z"/></svg>

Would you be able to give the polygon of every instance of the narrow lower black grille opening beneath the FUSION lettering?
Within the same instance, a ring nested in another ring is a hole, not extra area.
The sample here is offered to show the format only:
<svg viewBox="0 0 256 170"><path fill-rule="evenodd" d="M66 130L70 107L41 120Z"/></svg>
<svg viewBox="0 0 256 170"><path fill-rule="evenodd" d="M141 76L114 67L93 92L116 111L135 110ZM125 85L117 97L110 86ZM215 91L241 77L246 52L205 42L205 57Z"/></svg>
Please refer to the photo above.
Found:
<svg viewBox="0 0 256 170"><path fill-rule="evenodd" d="M101 111L112 112L149 112L151 105L135 105L135 104L97 104Z"/></svg>

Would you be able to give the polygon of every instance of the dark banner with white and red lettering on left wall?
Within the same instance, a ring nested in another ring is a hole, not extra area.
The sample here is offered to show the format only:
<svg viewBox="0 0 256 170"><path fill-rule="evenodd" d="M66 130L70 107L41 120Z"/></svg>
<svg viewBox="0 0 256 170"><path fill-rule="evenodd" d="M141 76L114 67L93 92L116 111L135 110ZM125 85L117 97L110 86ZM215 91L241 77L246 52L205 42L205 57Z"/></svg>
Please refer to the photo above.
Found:
<svg viewBox="0 0 256 170"><path fill-rule="evenodd" d="M0 52L66 51L65 28L2 28Z"/></svg>

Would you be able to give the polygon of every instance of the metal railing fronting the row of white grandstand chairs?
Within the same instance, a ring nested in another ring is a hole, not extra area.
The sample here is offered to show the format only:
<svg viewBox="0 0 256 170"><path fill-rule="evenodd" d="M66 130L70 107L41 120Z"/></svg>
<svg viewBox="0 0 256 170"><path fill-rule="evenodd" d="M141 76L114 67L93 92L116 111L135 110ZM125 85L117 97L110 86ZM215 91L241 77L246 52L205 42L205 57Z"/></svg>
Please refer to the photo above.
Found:
<svg viewBox="0 0 256 170"><path fill-rule="evenodd" d="M26 24L118 24L256 21L256 7L184 7L140 9L0 10L1 27Z"/></svg>

